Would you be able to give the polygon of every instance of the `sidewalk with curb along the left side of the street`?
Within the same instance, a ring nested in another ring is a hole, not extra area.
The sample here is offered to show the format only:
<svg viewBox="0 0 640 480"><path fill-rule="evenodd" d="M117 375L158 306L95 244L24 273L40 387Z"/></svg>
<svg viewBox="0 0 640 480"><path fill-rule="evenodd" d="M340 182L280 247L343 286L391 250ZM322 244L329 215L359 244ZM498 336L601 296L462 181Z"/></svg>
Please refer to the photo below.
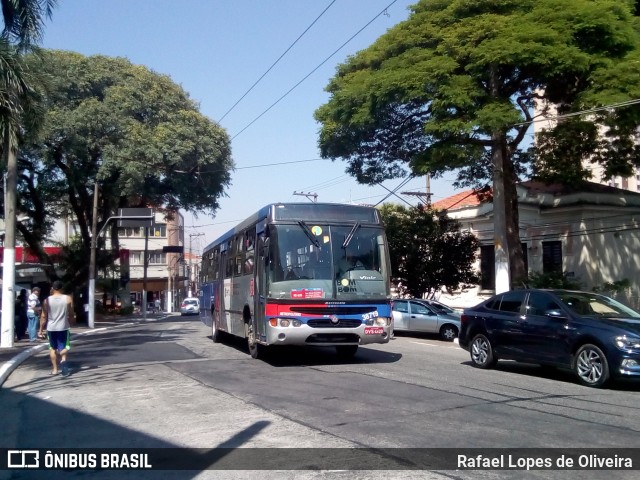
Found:
<svg viewBox="0 0 640 480"><path fill-rule="evenodd" d="M147 319L158 319L163 316L160 314L147 314ZM142 321L142 317L136 316L108 316L96 318L94 328L89 328L86 323L77 323L71 327L72 338L75 335L84 335L89 332L93 332L99 329L116 327L119 325L126 325L129 323L137 323ZM38 340L36 342L30 342L29 339L13 342L13 347L0 348L0 387L5 380L11 375L22 362L27 358L35 355L38 352L46 350L48 348L46 340Z"/></svg>

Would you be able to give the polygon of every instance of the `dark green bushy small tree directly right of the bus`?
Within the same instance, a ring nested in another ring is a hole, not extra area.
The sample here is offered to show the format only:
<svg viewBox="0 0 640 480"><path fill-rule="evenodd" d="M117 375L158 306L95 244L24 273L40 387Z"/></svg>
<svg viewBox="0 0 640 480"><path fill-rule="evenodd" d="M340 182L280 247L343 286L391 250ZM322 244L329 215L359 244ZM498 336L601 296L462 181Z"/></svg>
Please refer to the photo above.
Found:
<svg viewBox="0 0 640 480"><path fill-rule="evenodd" d="M478 282L473 268L480 244L460 225L433 210L385 204L384 220L392 278L401 294L468 288Z"/></svg>

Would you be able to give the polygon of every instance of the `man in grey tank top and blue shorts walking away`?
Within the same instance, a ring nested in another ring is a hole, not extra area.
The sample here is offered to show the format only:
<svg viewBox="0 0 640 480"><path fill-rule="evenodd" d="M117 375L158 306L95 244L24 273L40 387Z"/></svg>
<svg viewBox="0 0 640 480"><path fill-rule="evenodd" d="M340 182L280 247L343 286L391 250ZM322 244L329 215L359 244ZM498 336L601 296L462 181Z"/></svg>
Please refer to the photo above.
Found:
<svg viewBox="0 0 640 480"><path fill-rule="evenodd" d="M69 295L62 293L62 282L56 280L52 285L53 293L44 301L40 317L40 332L47 330L49 339L49 357L51 358L51 375L60 371L63 376L69 375L67 354L71 349L71 323L73 318L73 301ZM58 357L60 357L58 361Z"/></svg>

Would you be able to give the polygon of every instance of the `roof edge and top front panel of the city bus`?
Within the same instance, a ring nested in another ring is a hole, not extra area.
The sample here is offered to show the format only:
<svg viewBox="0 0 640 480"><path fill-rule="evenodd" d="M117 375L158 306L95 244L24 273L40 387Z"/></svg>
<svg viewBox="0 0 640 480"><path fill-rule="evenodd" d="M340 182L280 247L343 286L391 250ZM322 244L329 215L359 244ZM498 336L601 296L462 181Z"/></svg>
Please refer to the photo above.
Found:
<svg viewBox="0 0 640 480"><path fill-rule="evenodd" d="M380 214L375 207L367 205L350 205L342 203L271 203L262 207L256 213L246 218L231 230L218 237L205 247L209 250L220 243L225 242L248 226L259 222L261 219L271 222L299 221L328 222L328 223L353 223L381 225Z"/></svg>

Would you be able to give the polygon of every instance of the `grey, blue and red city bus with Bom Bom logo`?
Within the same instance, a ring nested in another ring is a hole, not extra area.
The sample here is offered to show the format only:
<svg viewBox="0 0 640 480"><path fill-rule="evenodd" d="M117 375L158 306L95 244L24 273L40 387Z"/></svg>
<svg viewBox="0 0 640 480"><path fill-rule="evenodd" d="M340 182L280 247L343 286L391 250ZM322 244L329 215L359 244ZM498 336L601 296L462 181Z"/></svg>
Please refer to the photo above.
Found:
<svg viewBox="0 0 640 480"><path fill-rule="evenodd" d="M200 319L213 341L244 338L253 358L281 345L348 358L389 341L389 253L373 207L267 205L209 244L200 272Z"/></svg>

